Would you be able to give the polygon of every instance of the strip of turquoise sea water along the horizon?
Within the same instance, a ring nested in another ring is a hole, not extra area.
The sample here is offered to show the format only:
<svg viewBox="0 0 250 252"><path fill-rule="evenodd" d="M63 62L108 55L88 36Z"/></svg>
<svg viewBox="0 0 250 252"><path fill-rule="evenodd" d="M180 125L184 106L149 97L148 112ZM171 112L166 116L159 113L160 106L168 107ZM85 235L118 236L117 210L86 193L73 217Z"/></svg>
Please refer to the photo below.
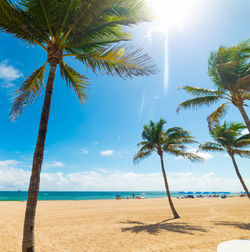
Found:
<svg viewBox="0 0 250 252"><path fill-rule="evenodd" d="M42 191L39 193L38 200L99 200L99 199L115 199L116 195L120 195L121 198L132 197L132 193L135 196L145 197L145 198L163 198L166 197L166 192L156 192L156 191L141 191L141 192L46 192ZM171 192L172 197L183 197L188 194L193 194L194 196L198 194L213 195L213 194L223 194L235 195L235 193L230 192ZM27 192L24 191L0 191L0 201L23 201L27 200Z"/></svg>

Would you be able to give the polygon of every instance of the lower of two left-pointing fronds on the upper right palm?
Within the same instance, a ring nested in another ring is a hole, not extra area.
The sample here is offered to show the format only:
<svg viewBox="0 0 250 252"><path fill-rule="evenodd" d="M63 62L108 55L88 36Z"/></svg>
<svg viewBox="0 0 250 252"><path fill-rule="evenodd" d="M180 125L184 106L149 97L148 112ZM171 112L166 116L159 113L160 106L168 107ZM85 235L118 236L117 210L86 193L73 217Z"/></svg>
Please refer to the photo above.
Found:
<svg viewBox="0 0 250 252"><path fill-rule="evenodd" d="M194 99L190 99L187 101L182 102L177 107L177 112L179 112L181 109L198 109L202 106L209 106L214 103L216 103L220 99L219 96L203 96L203 97L197 97Z"/></svg>

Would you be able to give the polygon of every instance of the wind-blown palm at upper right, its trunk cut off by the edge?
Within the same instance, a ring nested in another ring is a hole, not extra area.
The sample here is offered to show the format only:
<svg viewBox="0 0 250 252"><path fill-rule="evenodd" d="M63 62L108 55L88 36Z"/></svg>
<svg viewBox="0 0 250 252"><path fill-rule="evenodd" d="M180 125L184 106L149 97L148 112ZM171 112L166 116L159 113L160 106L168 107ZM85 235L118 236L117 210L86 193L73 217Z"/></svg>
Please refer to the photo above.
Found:
<svg viewBox="0 0 250 252"><path fill-rule="evenodd" d="M181 109L197 109L202 106L210 106L216 102L223 102L207 120L211 130L215 124L226 114L228 104L236 106L250 132L250 121L244 109L250 100L250 40L232 47L220 47L217 52L212 52L208 60L208 74L215 86L214 89L183 86L187 93L196 98L181 103L177 112Z"/></svg>

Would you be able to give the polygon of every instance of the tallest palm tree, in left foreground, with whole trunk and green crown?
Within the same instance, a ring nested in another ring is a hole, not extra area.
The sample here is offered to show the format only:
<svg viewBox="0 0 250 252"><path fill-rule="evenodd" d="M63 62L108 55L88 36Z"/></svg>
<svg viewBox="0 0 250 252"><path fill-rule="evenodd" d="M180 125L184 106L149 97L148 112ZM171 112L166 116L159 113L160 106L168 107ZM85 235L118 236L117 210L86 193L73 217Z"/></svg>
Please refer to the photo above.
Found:
<svg viewBox="0 0 250 252"><path fill-rule="evenodd" d="M33 157L23 232L23 252L34 251L34 223L40 172L56 69L80 102L86 100L87 77L70 67L66 57L78 60L95 73L122 78L155 73L150 58L141 50L125 47L131 35L123 27L149 21L143 0L0 0L0 31L29 45L40 46L47 60L21 84L10 112L19 116L45 88L45 99ZM123 43L123 44L122 44Z"/></svg>

